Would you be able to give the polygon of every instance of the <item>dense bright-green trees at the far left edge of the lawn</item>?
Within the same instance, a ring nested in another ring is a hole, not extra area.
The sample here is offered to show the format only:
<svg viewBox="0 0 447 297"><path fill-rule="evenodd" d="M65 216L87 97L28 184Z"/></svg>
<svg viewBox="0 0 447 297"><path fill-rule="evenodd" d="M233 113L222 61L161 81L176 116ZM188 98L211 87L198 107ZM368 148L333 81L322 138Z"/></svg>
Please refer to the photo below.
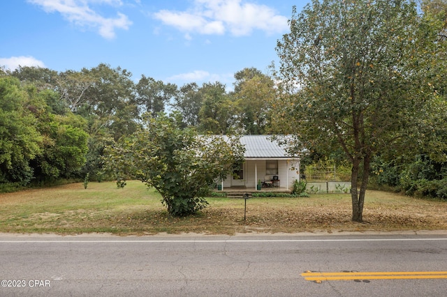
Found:
<svg viewBox="0 0 447 297"><path fill-rule="evenodd" d="M59 95L0 78L0 183L70 178L85 163L85 121L68 110L54 114Z"/></svg>

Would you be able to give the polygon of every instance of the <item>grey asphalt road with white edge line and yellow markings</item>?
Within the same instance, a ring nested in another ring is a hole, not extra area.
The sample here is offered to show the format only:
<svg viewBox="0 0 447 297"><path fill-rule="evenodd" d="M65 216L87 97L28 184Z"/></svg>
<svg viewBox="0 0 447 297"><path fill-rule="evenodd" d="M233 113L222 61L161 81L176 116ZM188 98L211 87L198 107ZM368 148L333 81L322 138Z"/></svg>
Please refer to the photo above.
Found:
<svg viewBox="0 0 447 297"><path fill-rule="evenodd" d="M0 264L0 296L446 296L447 233L1 234Z"/></svg>

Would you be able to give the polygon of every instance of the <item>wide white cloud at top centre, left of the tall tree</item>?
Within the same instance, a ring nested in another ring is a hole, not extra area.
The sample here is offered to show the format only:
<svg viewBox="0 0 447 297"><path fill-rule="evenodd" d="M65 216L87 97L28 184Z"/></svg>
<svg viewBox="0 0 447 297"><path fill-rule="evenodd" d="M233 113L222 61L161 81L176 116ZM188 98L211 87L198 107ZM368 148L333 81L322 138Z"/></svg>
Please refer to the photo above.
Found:
<svg viewBox="0 0 447 297"><path fill-rule="evenodd" d="M233 36L247 36L256 29L266 33L288 29L287 17L277 15L273 8L242 0L194 0L189 10L160 10L154 17L180 31L207 35L229 31Z"/></svg>

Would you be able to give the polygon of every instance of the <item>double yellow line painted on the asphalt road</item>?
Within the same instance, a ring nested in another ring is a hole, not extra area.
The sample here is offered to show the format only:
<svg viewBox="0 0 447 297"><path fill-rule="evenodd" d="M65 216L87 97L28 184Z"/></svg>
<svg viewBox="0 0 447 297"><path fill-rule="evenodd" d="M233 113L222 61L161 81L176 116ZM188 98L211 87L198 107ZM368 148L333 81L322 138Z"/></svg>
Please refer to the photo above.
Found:
<svg viewBox="0 0 447 297"><path fill-rule="evenodd" d="M416 280L447 279L447 271L390 271L390 272L306 272L301 273L305 280Z"/></svg>

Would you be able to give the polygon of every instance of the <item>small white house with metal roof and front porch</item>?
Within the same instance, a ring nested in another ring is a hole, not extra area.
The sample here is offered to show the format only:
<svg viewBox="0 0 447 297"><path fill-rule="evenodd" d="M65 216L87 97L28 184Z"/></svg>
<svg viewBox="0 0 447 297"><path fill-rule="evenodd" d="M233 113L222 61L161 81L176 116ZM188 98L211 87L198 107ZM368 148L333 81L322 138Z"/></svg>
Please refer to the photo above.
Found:
<svg viewBox="0 0 447 297"><path fill-rule="evenodd" d="M225 188L263 188L291 190L300 180L300 158L287 153L272 139L272 135L244 135L240 142L245 146L244 163L221 182Z"/></svg>

